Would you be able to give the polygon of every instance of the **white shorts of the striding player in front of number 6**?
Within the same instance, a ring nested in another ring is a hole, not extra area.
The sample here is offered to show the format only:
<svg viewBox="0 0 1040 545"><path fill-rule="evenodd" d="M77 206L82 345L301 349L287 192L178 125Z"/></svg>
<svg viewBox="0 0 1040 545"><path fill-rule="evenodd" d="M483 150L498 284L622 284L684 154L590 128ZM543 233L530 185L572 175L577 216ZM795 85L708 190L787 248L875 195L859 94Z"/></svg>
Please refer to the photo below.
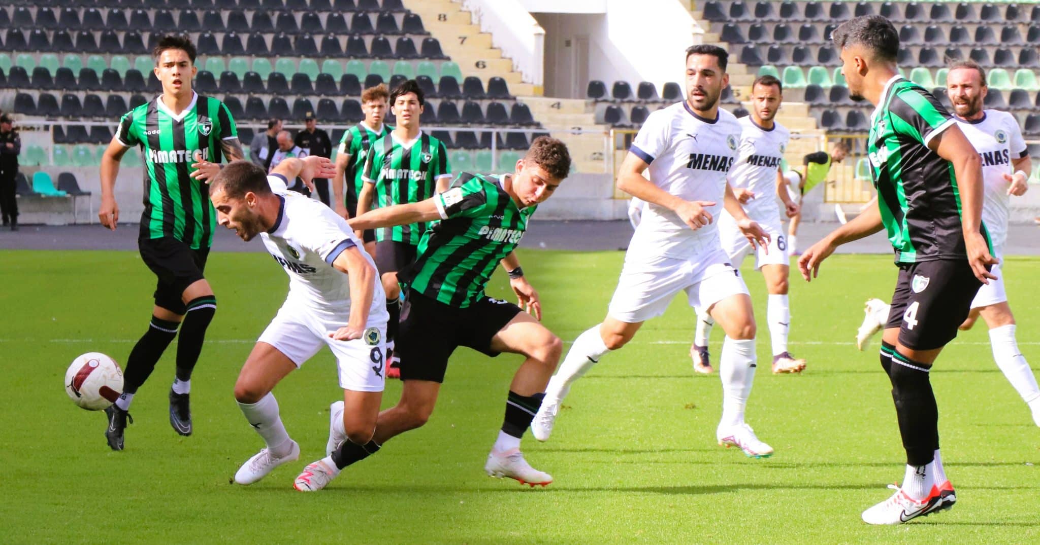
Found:
<svg viewBox="0 0 1040 545"><path fill-rule="evenodd" d="M722 249L692 260L626 256L607 316L626 324L646 322L664 315L680 291L686 292L690 306L702 312L729 296L747 295L748 287Z"/></svg>

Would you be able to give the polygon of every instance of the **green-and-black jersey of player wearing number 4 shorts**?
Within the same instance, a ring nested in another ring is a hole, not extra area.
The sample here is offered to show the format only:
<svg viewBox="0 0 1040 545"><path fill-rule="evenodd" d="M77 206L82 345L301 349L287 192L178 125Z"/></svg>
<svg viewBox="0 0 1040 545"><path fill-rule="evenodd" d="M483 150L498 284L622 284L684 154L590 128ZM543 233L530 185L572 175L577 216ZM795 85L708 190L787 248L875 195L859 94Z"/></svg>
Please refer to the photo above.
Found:
<svg viewBox="0 0 1040 545"><path fill-rule="evenodd" d="M870 171L895 263L967 257L954 165L928 146L956 124L931 92L901 76L870 116Z"/></svg>

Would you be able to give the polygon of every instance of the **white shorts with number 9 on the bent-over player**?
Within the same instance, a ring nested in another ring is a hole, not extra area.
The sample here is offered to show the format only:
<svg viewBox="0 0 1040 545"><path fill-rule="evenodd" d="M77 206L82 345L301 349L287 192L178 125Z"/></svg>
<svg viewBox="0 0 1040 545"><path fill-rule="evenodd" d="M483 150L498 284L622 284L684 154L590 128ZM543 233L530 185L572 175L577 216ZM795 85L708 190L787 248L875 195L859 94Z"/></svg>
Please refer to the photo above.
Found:
<svg viewBox="0 0 1040 545"><path fill-rule="evenodd" d="M386 365L386 324L365 329L361 338L335 340L329 333L346 325L347 316L318 316L286 302L258 343L285 354L297 367L328 346L336 356L339 386L354 391L383 391Z"/></svg>

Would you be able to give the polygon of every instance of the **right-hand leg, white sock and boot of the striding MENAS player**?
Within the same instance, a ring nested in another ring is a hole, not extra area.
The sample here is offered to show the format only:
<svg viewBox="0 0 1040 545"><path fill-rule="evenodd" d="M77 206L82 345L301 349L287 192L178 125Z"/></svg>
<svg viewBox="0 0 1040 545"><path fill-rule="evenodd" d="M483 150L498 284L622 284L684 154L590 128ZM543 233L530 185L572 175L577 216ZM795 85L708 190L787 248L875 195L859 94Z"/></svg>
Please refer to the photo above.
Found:
<svg viewBox="0 0 1040 545"><path fill-rule="evenodd" d="M758 440L745 423L744 412L755 379L755 316L751 297L729 296L711 305L708 312L726 332L719 357L722 379L722 418L716 430L719 444L736 446L750 458L765 458L773 447Z"/></svg>

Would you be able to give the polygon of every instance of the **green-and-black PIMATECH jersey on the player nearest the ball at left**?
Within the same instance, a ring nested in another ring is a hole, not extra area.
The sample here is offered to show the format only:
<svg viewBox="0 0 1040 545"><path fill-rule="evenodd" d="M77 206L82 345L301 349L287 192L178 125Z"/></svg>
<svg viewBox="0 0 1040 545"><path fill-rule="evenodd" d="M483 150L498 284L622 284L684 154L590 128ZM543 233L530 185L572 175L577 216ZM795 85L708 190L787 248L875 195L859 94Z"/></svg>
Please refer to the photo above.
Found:
<svg viewBox="0 0 1040 545"><path fill-rule="evenodd" d="M238 138L228 107L196 94L187 109L174 115L157 98L127 112L115 138L127 147L140 146L145 164L140 237L174 237L192 249L210 247L216 214L206 183L189 174L200 159L220 162L220 140Z"/></svg>

